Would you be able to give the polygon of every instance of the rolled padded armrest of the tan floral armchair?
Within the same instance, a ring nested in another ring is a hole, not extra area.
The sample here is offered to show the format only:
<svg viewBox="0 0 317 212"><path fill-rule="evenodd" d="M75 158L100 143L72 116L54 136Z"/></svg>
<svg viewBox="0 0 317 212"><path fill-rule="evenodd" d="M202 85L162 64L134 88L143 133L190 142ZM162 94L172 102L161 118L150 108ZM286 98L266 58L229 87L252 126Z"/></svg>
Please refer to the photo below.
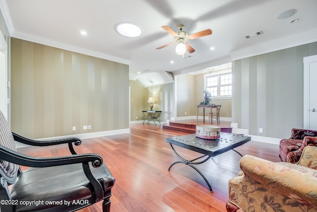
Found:
<svg viewBox="0 0 317 212"><path fill-rule="evenodd" d="M316 170L292 163L270 162L245 155L240 160L241 170L267 189L291 199L316 205Z"/></svg>

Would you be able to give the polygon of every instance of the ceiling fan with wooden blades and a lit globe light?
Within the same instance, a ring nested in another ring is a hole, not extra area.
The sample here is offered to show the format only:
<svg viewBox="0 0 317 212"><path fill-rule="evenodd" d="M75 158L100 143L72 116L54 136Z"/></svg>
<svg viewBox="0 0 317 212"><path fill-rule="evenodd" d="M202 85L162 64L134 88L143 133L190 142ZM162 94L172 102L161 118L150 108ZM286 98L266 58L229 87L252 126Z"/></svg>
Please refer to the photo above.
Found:
<svg viewBox="0 0 317 212"><path fill-rule="evenodd" d="M195 49L187 43L188 40L193 40L196 38L204 37L207 35L211 35L212 31L211 29L206 29L200 32L196 32L194 34L188 35L187 32L183 31L184 25L178 25L179 32L174 32L169 26L161 26L166 32L168 32L170 35L174 37L174 41L168 44L165 44L163 46L158 47L157 49L162 49L166 46L170 46L172 44L178 43L176 46L176 53L178 55L184 55L184 53L193 53L195 52Z"/></svg>

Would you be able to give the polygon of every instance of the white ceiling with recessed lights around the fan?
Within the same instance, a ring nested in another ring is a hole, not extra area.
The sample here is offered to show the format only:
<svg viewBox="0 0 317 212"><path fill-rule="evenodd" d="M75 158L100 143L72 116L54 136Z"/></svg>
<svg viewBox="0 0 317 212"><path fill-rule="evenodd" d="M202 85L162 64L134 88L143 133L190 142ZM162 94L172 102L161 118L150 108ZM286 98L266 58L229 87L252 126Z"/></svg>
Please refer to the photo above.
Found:
<svg viewBox="0 0 317 212"><path fill-rule="evenodd" d="M12 37L128 64L130 79L201 71L317 41L317 0L0 0L0 6ZM297 13L276 18L288 9ZM118 22L137 24L143 33L119 35ZM161 26L177 32L179 24L188 34L210 28L212 35L189 40L196 51L184 58L175 53L176 45L157 50L173 41ZM244 37L260 30L264 34Z"/></svg>

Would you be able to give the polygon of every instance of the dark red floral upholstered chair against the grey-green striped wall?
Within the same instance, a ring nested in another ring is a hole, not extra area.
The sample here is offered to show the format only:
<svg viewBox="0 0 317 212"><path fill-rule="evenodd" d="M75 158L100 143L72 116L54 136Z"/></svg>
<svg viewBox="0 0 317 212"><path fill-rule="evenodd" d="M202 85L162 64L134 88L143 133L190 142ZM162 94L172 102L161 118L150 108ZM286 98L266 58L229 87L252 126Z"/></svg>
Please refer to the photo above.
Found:
<svg viewBox="0 0 317 212"><path fill-rule="evenodd" d="M291 137L279 143L281 161L297 163L307 145L317 146L317 131L293 128Z"/></svg>

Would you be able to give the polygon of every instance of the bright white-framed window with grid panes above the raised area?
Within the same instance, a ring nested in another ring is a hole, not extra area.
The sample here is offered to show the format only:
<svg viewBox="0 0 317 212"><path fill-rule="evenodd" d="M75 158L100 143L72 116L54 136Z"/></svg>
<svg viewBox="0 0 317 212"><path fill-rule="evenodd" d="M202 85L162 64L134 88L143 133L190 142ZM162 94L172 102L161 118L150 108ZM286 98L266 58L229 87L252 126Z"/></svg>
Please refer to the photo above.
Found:
<svg viewBox="0 0 317 212"><path fill-rule="evenodd" d="M205 75L205 89L211 92L212 97L231 97L232 95L232 73L219 71Z"/></svg>

